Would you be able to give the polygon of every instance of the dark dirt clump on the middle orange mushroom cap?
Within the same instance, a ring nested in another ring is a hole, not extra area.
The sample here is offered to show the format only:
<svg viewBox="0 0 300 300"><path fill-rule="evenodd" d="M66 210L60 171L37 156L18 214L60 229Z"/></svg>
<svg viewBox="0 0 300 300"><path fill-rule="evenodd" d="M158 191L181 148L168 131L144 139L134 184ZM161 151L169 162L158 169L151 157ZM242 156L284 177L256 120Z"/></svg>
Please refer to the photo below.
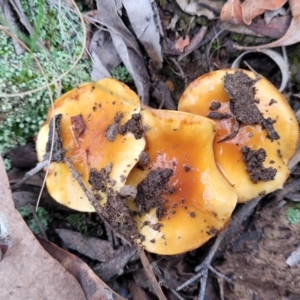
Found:
<svg viewBox="0 0 300 300"><path fill-rule="evenodd" d="M168 192L168 183L173 175L172 169L158 168L151 170L147 177L137 186L135 203L138 207L138 214L149 212L156 208L156 216L160 220L164 214L164 193Z"/></svg>

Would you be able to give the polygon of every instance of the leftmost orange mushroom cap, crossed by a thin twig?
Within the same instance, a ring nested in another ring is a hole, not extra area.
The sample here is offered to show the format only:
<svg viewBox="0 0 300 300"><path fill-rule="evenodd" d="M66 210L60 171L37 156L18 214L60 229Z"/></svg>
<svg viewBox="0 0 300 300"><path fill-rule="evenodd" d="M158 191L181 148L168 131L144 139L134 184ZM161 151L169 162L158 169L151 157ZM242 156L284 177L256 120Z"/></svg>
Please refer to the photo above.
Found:
<svg viewBox="0 0 300 300"><path fill-rule="evenodd" d="M125 84L109 78L69 91L55 101L54 109L56 119L60 119L58 130L63 155L81 175L85 186L91 188L91 171L97 177L97 172L102 170L107 177L104 184L119 191L145 147L140 122L134 121L140 112L138 96ZM37 136L40 161L46 153L49 123L53 116L50 108ZM131 121L135 126L130 126ZM63 205L78 211L94 211L63 161L51 162L47 188L51 196ZM106 195L99 193L101 204L104 204Z"/></svg>

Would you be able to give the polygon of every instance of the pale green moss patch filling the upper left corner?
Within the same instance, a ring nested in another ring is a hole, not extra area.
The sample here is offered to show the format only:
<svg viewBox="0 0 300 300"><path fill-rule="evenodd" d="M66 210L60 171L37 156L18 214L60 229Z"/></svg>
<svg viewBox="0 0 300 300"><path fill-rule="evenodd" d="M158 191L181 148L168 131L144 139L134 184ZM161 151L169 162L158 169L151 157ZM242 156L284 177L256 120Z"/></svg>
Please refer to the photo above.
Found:
<svg viewBox="0 0 300 300"><path fill-rule="evenodd" d="M0 93L22 93L46 85L33 55L51 82L70 69L83 47L83 31L75 13L58 9L50 1L21 0L21 5L34 28L31 39L23 38L32 52L17 55L12 39L0 31ZM90 72L91 61L81 60L58 84L61 93L91 81ZM56 87L50 89L55 99ZM25 96L0 97L0 154L35 136L49 106L47 88Z"/></svg>

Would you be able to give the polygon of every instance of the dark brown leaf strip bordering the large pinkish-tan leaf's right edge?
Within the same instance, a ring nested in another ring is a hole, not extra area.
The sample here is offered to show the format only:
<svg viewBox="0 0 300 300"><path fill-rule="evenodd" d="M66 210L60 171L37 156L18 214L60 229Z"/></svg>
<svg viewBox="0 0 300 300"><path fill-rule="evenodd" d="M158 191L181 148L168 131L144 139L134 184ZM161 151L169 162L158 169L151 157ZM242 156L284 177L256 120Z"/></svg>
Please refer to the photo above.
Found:
<svg viewBox="0 0 300 300"><path fill-rule="evenodd" d="M71 254L53 243L39 239L40 244L44 249L56 260L58 260L81 284L87 300L107 300L108 295L111 299L125 300L120 295L112 291L90 267L80 258ZM72 299L72 298L58 298Z"/></svg>

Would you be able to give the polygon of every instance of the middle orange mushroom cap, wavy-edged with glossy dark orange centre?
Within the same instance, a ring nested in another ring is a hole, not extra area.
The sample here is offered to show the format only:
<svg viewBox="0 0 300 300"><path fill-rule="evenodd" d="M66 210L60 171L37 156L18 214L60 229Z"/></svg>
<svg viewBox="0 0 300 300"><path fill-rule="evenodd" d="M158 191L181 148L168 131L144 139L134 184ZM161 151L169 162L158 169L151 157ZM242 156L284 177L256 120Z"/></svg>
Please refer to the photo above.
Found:
<svg viewBox="0 0 300 300"><path fill-rule="evenodd" d="M146 149L130 172L128 202L142 245L157 254L195 249L220 231L237 195L216 167L215 122L177 111L142 111Z"/></svg>

